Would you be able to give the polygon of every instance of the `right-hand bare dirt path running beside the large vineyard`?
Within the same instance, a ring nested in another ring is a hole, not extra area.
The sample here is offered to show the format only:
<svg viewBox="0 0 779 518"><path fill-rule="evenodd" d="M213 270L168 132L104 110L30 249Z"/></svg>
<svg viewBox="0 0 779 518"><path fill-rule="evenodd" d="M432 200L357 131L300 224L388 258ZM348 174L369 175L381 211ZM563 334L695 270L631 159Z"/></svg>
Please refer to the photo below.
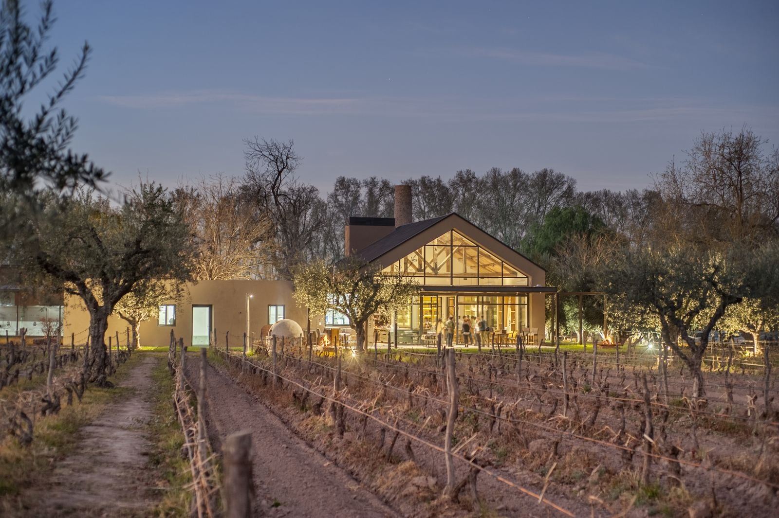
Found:
<svg viewBox="0 0 779 518"><path fill-rule="evenodd" d="M197 386L196 369L189 379ZM213 367L208 370L209 426L220 441L252 431L259 516L398 516L375 495L291 432L256 397ZM276 507L274 507L274 502Z"/></svg>

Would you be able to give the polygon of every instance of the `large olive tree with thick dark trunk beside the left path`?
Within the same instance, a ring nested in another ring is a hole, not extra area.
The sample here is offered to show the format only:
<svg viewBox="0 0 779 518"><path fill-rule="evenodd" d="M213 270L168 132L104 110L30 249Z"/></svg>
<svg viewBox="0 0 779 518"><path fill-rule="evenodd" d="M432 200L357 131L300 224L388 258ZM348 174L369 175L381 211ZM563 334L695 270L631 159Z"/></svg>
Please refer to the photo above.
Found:
<svg viewBox="0 0 779 518"><path fill-rule="evenodd" d="M168 192L153 183L129 191L118 207L91 191L72 198L50 193L43 207L30 220L30 238L14 250L16 262L83 300L90 313L90 380L107 386L109 315L149 279L191 280L189 229Z"/></svg>

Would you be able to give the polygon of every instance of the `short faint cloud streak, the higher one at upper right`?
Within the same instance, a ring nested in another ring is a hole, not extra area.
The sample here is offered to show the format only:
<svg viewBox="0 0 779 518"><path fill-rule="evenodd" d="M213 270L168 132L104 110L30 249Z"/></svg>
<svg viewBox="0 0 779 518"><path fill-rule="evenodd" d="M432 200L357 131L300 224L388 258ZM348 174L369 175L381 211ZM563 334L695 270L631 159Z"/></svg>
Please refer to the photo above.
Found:
<svg viewBox="0 0 779 518"><path fill-rule="evenodd" d="M650 65L615 54L590 52L587 54L552 54L549 52L521 51L506 47L459 47L460 54L478 58L493 58L523 65L552 67L597 68L601 70L640 70Z"/></svg>

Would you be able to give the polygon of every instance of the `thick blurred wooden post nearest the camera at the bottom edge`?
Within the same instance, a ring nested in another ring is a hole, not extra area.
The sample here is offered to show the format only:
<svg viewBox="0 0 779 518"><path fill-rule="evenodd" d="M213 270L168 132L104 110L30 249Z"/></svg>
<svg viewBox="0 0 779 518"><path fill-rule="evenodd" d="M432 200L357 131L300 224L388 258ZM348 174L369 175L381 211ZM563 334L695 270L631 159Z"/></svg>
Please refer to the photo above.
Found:
<svg viewBox="0 0 779 518"><path fill-rule="evenodd" d="M243 430L224 441L224 506L227 518L252 516L252 432Z"/></svg>

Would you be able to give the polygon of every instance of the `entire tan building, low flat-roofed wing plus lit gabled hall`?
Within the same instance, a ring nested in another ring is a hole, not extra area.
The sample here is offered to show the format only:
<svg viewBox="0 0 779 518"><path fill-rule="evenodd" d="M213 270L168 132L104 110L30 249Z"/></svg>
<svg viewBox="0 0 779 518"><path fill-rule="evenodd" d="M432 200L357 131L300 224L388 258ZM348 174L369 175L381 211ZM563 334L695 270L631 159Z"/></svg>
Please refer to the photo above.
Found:
<svg viewBox="0 0 779 518"><path fill-rule="evenodd" d="M545 285L544 268L455 213L412 222L411 187L395 189L395 218L350 218L345 228L347 255L379 264L387 273L400 272L420 286L419 295L394 322L368 323L369 338L378 325L383 327L382 341L420 344L430 338L437 320L449 316L485 317L494 331L521 333L534 328L536 340L538 331L543 336L545 296L556 292ZM206 345L209 338L222 345L227 331L231 345L241 345L247 308L249 333L256 338L263 326L282 318L306 327L307 311L294 302L291 282L201 281L187 285L185 291L182 300L160 306L157 319L141 324L141 345L167 345L171 331L188 346ZM86 341L89 320L81 299L66 296L65 337L73 333L76 341ZM333 310L312 316L311 324L320 331L349 327L347 317ZM127 329L127 322L113 315L106 338L118 333L124 344Z"/></svg>

